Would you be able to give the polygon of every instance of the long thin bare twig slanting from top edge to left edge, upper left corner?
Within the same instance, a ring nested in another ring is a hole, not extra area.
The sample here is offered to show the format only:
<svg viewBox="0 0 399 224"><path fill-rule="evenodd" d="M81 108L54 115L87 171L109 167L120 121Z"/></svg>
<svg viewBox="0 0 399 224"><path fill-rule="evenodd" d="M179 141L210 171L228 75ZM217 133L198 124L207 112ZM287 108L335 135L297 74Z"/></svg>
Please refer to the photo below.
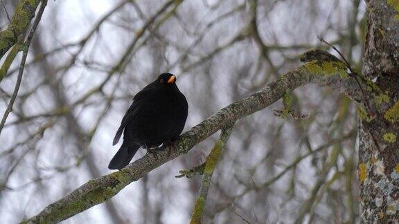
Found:
<svg viewBox="0 0 399 224"><path fill-rule="evenodd" d="M32 26L32 28L30 28L29 35L26 38L26 41L24 43L24 46L23 46L24 53L22 54L21 64L19 65L17 83L15 84L14 92L12 93L12 96L11 96L10 102L8 103L7 109L4 112L3 118L1 119L0 134L1 134L1 131L3 130L4 124L6 123L8 114L10 114L10 112L12 111L12 105L14 104L15 99L17 98L19 86L21 86L22 75L24 74L26 58L28 57L28 50L29 50L30 42L32 41L33 34L35 34L37 25L39 25L40 19L42 19L44 8L46 8L46 6L47 6L47 0L42 0L40 3L39 12L37 12L37 16L35 18L35 21L33 22L33 26Z"/></svg>

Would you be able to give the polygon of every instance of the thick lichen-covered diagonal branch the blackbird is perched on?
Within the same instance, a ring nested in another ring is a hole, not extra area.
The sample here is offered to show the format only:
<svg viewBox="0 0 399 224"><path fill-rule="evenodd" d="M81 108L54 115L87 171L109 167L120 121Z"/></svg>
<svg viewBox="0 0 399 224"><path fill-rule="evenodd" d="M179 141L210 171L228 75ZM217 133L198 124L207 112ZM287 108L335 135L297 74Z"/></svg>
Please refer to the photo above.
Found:
<svg viewBox="0 0 399 224"><path fill-rule="evenodd" d="M158 150L157 153L149 153L120 171L89 180L64 198L48 205L42 212L24 223L60 222L94 205L103 203L118 194L126 185L139 180L164 163L187 153L216 131L230 127L240 118L265 109L279 100L287 89L294 90L305 84L316 83L321 86L330 85L346 95L359 99L359 89L355 81L346 73L344 62L323 61L314 59L314 57L312 60L305 58L305 61L308 63L282 75L275 82L249 97L224 107L186 131L172 148L162 147L162 150Z"/></svg>

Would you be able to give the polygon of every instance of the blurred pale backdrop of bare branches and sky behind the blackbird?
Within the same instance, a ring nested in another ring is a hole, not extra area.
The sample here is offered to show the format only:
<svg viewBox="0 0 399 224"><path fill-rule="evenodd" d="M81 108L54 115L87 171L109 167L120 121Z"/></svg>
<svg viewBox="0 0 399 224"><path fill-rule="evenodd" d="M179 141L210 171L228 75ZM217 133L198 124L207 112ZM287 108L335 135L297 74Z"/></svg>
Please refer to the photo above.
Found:
<svg viewBox="0 0 399 224"><path fill-rule="evenodd" d="M3 3L12 16L18 1ZM0 136L1 223L109 174L119 147L112 139L132 97L160 73L177 75L188 130L299 66L305 50L327 49L318 35L360 68L364 10L360 0L48 1ZM1 7L0 29L7 24ZM20 60L0 84L1 115ZM237 122L204 223L358 221L355 105L316 85L292 97L294 117L304 119L275 116L279 101ZM217 138L64 223L188 223L200 176L175 175L203 162Z"/></svg>

